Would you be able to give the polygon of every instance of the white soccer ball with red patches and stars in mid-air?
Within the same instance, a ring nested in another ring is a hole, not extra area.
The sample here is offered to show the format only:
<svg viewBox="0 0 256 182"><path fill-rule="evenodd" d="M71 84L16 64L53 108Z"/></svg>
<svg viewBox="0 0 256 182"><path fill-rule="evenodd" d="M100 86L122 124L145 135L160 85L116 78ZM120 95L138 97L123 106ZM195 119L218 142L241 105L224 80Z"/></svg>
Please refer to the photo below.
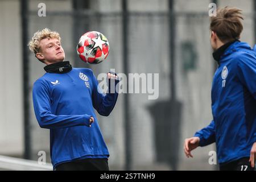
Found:
<svg viewBox="0 0 256 182"><path fill-rule="evenodd" d="M98 64L109 55L108 39L97 31L86 32L79 39L77 54L85 63Z"/></svg>

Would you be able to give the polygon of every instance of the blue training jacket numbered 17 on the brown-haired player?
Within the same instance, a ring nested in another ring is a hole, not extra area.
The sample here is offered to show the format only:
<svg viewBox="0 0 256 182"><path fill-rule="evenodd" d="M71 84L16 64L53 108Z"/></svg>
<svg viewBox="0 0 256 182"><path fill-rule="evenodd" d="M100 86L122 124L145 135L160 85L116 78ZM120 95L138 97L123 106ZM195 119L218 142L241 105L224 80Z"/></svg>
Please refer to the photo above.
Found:
<svg viewBox="0 0 256 182"><path fill-rule="evenodd" d="M216 142L221 164L249 157L256 142L256 46L234 42L219 64L212 83L213 121L195 137L199 146Z"/></svg>

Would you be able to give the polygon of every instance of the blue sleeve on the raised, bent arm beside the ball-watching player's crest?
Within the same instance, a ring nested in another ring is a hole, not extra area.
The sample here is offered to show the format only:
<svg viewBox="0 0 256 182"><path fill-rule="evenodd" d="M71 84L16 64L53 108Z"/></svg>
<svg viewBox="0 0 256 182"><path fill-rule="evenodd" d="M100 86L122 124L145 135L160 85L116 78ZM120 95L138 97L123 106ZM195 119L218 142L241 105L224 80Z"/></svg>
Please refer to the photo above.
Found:
<svg viewBox="0 0 256 182"><path fill-rule="evenodd" d="M92 73L93 78L93 90L92 90L92 102L94 109L98 114L108 116L114 109L115 102L117 102L118 90L115 89L119 80L108 79L108 93L103 93L102 89L98 85L96 77Z"/></svg>

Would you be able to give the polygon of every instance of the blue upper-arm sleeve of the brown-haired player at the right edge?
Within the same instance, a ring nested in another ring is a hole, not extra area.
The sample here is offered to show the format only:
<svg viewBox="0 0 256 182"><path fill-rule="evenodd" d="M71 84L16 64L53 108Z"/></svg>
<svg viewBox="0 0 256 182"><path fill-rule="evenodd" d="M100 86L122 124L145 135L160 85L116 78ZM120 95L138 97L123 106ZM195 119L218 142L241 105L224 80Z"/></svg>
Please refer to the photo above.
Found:
<svg viewBox="0 0 256 182"><path fill-rule="evenodd" d="M237 60L237 76L256 99L256 59L240 56Z"/></svg>

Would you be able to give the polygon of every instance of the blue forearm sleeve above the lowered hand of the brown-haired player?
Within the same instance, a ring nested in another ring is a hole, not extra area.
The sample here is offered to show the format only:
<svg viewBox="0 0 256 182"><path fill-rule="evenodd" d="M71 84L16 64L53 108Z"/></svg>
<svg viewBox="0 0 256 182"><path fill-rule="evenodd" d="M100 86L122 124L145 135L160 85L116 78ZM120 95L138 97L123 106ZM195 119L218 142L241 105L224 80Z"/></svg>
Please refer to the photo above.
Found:
<svg viewBox="0 0 256 182"><path fill-rule="evenodd" d="M197 131L194 137L199 137L200 142L199 146L207 146L208 144L212 144L215 142L215 123L214 121L210 122L210 125Z"/></svg>

